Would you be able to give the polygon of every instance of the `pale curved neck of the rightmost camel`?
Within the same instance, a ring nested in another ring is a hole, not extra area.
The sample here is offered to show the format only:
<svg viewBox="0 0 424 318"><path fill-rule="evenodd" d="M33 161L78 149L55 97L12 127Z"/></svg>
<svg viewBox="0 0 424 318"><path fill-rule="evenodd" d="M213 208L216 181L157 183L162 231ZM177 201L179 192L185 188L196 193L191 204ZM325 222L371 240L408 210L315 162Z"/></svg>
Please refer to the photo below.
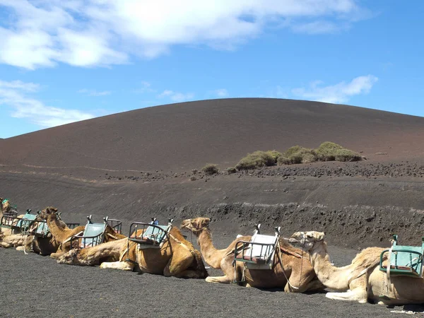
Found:
<svg viewBox="0 0 424 318"><path fill-rule="evenodd" d="M323 285L334 290L348 289L348 275L351 271L348 266L336 267L331 264L325 242L317 242L310 254L314 271Z"/></svg>

